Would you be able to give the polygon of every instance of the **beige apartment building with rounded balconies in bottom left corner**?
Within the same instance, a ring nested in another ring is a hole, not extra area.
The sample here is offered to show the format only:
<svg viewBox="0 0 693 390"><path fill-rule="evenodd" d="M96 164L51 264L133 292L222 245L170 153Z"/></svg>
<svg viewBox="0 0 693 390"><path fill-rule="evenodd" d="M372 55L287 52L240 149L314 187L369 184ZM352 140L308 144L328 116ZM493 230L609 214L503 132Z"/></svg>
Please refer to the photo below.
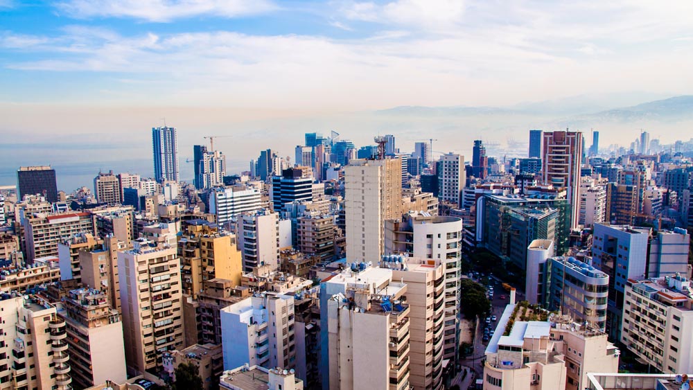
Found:
<svg viewBox="0 0 693 390"><path fill-rule="evenodd" d="M0 300L0 389L71 390L65 321L36 296Z"/></svg>

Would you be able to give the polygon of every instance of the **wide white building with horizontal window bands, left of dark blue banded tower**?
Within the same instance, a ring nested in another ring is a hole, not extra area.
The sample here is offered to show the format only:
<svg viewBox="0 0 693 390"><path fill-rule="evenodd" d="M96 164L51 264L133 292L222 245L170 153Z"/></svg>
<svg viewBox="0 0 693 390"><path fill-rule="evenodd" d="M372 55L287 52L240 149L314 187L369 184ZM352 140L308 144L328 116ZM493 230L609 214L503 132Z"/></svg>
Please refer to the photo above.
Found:
<svg viewBox="0 0 693 390"><path fill-rule="evenodd" d="M209 213L220 225L227 224L241 213L253 213L262 207L261 193L255 188L233 186L212 188L209 192Z"/></svg>

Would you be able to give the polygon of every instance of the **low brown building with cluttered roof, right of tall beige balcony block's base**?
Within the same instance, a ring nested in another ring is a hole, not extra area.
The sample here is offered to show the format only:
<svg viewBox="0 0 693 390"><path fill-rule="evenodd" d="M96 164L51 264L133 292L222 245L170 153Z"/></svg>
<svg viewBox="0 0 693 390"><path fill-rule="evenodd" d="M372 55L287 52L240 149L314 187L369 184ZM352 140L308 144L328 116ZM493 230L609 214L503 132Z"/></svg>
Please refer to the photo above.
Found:
<svg viewBox="0 0 693 390"><path fill-rule="evenodd" d="M175 382L175 369L181 364L198 367L198 375L202 378L202 389L218 390L213 388L213 379L218 379L224 372L221 344L195 344L180 351L174 350L164 353L164 371Z"/></svg>

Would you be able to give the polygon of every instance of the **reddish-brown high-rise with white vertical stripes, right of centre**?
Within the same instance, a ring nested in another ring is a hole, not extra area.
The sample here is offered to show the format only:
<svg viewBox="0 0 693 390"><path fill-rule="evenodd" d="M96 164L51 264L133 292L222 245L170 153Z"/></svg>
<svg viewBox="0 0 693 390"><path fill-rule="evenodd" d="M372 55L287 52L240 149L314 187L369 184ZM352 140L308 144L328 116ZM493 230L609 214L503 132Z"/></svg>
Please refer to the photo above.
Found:
<svg viewBox="0 0 693 390"><path fill-rule="evenodd" d="M570 204L570 229L579 220L579 186L582 159L582 133L555 131L544 133L541 175L545 184L565 188Z"/></svg>

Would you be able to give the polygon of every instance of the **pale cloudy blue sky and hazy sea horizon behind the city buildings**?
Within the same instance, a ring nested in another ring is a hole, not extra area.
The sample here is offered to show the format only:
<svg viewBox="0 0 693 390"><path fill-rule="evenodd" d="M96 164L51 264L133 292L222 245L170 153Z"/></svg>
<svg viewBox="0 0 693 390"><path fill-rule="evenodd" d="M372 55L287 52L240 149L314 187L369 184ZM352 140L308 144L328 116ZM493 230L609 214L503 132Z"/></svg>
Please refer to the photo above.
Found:
<svg viewBox="0 0 693 390"><path fill-rule="evenodd" d="M184 148L233 134L219 145L240 167L303 132L450 127L365 114L391 107L690 94L691 15L690 0L0 0L0 171L147 160L164 118ZM480 121L446 146L492 137Z"/></svg>

